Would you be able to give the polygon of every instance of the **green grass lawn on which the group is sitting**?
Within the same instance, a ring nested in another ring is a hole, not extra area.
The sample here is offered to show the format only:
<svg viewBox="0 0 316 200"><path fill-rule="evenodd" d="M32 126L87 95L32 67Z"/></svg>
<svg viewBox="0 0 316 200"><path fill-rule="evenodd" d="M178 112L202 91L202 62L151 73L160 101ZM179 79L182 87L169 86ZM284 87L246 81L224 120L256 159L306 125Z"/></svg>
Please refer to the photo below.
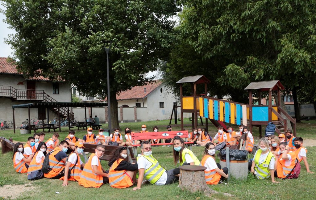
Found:
<svg viewBox="0 0 316 200"><path fill-rule="evenodd" d="M146 124L148 130L157 125L160 130L166 130L169 120L152 121L152 122L137 122L137 123L122 123L121 129L125 127L131 128L136 132L140 130L142 124ZM185 124L190 124L191 121L185 120ZM173 126L173 130L180 130L180 124ZM236 126L234 126L235 128ZM103 127L106 128L106 127ZM189 128L189 126L187 126ZM316 123L313 121L306 121L297 125L297 136L304 139L314 139L313 134L316 128ZM212 137L216 133L216 128L209 124L209 132ZM258 139L258 129L253 129L253 135ZM77 131L76 136L82 138L86 133L84 130ZM60 139L65 138L68 134L67 128L62 128ZM32 134L33 135L33 134ZM29 134L21 135L19 130L13 134L13 130L0 131L0 136L6 138L12 137L15 141L26 141ZM47 133L45 139L51 137L51 133ZM124 137L123 137L124 138ZM316 147L307 147L308 163L310 170L316 172ZM193 152L202 159L203 147L192 147ZM138 148L138 152L139 152ZM35 187L34 191L23 192L17 199L210 199L201 193L190 193L181 191L178 184L171 184L167 186L145 185L141 190L133 191L131 188L126 189L113 189L108 184L100 188L84 188L79 186L77 182L69 181L69 186L62 187L61 180L41 179L36 181L28 181L26 174L18 174L13 169L12 164L13 153L0 154L0 191L4 185L24 185L30 183ZM159 161L165 169L172 169L176 166L173 164L172 147L154 147L153 156ZM218 160L218 158L217 158ZM101 161L105 169L108 169L106 161ZM316 193L316 174L307 174L303 162L301 162L301 174L296 180L279 180L281 183L272 184L271 180L257 180L252 175L249 175L247 180L234 180L231 179L228 185L210 186L210 188L227 192L234 197L226 197L222 194L215 194L211 198L215 199L313 199ZM60 192L56 194L55 192ZM0 199L1 199L0 193Z"/></svg>

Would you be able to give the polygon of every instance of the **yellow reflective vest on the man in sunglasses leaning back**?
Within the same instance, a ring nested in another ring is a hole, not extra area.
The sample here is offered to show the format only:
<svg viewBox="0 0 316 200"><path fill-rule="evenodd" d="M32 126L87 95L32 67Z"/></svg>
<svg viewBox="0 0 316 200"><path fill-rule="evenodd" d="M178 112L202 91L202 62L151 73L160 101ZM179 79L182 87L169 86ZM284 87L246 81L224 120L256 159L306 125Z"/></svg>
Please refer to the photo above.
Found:
<svg viewBox="0 0 316 200"><path fill-rule="evenodd" d="M152 155L150 155L150 156L145 156L145 155L138 156L137 161L138 161L138 158L140 158L140 157L144 157L152 164L148 169L145 169L144 176L145 176L145 179L147 179L149 181L149 183L155 184L155 182L157 182L157 180L160 179L160 177L162 176L162 174L166 170L163 169L163 167L161 167L161 165L158 163L158 161Z"/></svg>

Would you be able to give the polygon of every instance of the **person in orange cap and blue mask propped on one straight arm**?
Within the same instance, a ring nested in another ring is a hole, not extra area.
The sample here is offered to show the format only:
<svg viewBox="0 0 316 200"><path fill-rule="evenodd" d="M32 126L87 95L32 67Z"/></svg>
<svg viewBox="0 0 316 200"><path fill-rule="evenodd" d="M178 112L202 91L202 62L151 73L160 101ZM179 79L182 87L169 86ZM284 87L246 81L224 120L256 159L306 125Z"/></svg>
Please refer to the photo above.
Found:
<svg viewBox="0 0 316 200"><path fill-rule="evenodd" d="M68 185L68 180L79 181L80 174L82 172L81 168L84 167L84 163L82 162L79 154L83 153L83 142L76 141L75 143L75 151L70 153L67 159L67 164L65 167L65 175L60 178L60 180L64 180L62 186ZM70 177L68 179L68 173L70 171Z"/></svg>

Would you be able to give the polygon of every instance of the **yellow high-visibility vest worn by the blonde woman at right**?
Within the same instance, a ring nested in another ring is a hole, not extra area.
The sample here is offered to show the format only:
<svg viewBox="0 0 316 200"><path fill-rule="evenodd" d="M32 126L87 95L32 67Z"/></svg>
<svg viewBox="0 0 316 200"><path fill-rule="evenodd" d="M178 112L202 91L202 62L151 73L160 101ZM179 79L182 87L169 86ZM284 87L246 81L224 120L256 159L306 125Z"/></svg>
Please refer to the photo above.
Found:
<svg viewBox="0 0 316 200"><path fill-rule="evenodd" d="M255 168L254 170L257 172L257 177L259 179L266 179L270 177L270 169L269 169L269 164L271 162L271 159L275 160L275 157L273 154L268 151L267 158L265 161L261 164L259 164L259 158L261 156L262 150L258 149L256 157L254 157L254 162L255 162ZM266 165L267 167L264 167L263 165Z"/></svg>

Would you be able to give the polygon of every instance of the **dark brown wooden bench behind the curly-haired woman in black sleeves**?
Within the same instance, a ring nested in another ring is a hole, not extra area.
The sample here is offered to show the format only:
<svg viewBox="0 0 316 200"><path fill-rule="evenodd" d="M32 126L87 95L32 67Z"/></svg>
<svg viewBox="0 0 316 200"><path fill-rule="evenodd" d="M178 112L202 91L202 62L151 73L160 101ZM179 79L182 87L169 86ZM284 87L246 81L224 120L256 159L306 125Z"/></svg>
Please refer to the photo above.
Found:
<svg viewBox="0 0 316 200"><path fill-rule="evenodd" d="M95 153L97 144L83 143L83 146L84 146L84 149L83 149L84 152ZM104 145L104 146L105 146L105 152L103 156L100 158L100 160L106 160L106 161L110 160L113 151L124 147L124 146L110 146L110 145ZM130 163L137 163L132 147L126 147L126 148L127 148L128 161ZM83 153L83 157L84 157L85 163L87 163L88 159L85 153Z"/></svg>

